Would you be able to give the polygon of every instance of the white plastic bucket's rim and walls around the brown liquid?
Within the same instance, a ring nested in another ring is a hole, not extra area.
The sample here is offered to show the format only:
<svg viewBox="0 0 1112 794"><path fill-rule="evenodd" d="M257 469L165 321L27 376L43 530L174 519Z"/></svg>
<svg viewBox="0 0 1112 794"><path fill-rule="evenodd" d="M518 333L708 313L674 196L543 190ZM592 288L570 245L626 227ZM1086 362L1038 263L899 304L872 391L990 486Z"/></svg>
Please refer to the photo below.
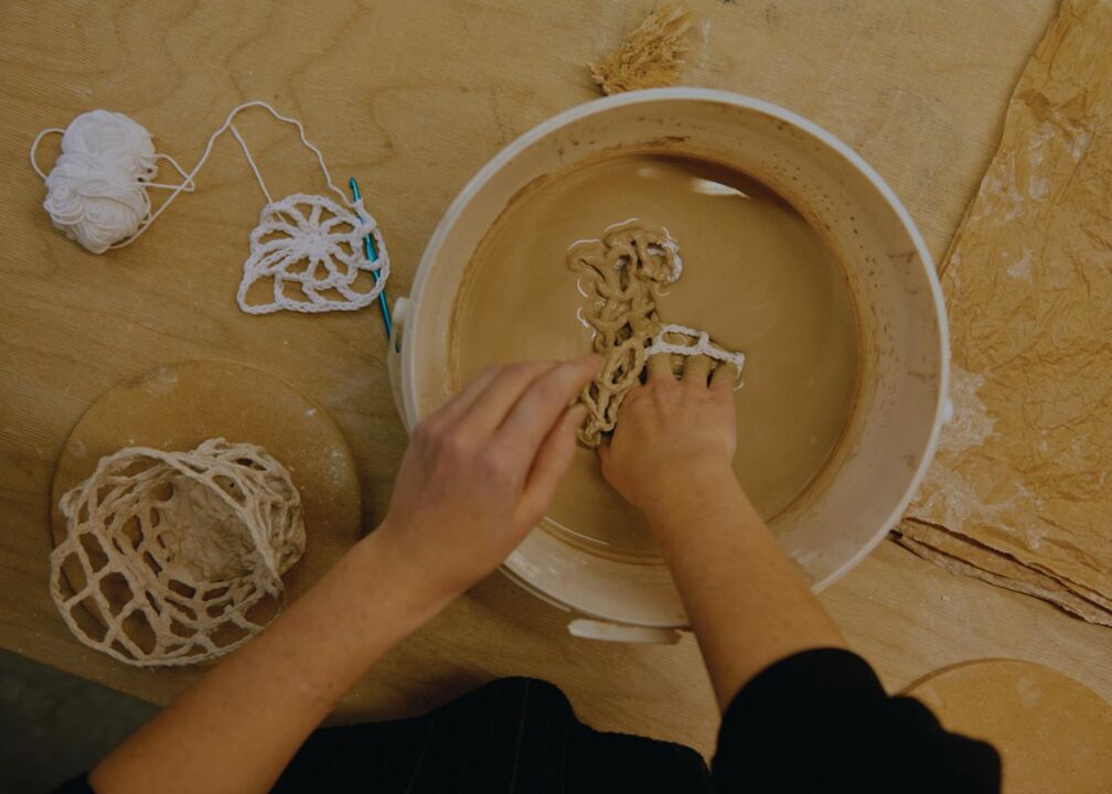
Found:
<svg viewBox="0 0 1112 794"><path fill-rule="evenodd" d="M822 231L846 269L863 335L855 413L824 473L773 525L822 589L880 543L919 487L949 410L950 356L939 280L903 205L845 143L783 108L705 89L635 91L567 110L503 149L448 208L409 298L398 300L390 375L399 411L411 428L450 396L456 294L518 191L626 147L704 156L755 177ZM504 569L577 613L569 629L578 636L662 642L687 625L663 565L596 556L538 528Z"/></svg>

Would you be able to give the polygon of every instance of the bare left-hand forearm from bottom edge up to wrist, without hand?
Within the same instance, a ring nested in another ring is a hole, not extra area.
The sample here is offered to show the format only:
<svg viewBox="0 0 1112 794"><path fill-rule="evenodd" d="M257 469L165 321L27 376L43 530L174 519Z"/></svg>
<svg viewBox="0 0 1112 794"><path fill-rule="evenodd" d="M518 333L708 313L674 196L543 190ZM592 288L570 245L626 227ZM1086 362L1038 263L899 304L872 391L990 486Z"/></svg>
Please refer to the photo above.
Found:
<svg viewBox="0 0 1112 794"><path fill-rule="evenodd" d="M373 534L267 629L109 755L97 791L267 791L379 657L448 601Z"/></svg>

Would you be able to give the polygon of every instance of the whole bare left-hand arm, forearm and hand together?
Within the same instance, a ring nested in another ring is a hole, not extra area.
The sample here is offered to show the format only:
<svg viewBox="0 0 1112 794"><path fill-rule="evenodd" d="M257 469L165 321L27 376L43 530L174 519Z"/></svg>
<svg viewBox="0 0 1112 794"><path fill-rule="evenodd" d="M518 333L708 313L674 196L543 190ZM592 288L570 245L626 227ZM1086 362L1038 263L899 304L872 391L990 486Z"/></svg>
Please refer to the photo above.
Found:
<svg viewBox="0 0 1112 794"><path fill-rule="evenodd" d="M414 433L390 518L90 776L102 791L270 788L389 648L497 567L544 515L597 356L490 367Z"/></svg>

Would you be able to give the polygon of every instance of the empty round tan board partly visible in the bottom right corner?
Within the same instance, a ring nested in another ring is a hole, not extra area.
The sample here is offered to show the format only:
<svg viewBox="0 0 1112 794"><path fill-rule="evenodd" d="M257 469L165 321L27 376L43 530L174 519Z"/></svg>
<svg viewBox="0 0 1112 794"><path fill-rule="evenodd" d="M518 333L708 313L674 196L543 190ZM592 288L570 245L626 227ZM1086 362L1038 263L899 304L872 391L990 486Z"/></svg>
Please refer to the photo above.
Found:
<svg viewBox="0 0 1112 794"><path fill-rule="evenodd" d="M907 694L947 730L996 746L1005 794L1112 792L1112 705L1064 673L971 662L932 673Z"/></svg>

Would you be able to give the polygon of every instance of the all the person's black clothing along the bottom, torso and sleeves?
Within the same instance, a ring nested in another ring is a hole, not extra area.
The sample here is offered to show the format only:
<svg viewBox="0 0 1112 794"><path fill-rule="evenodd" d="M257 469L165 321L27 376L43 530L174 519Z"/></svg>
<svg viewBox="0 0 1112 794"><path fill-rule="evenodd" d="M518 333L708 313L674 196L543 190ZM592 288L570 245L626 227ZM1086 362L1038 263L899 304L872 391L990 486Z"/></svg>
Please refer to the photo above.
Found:
<svg viewBox="0 0 1112 794"><path fill-rule="evenodd" d="M709 768L691 747L580 723L555 686L503 678L423 717L317 731L275 791L997 792L991 745L890 697L846 651L759 673L723 715ZM89 791L85 777L62 791Z"/></svg>

